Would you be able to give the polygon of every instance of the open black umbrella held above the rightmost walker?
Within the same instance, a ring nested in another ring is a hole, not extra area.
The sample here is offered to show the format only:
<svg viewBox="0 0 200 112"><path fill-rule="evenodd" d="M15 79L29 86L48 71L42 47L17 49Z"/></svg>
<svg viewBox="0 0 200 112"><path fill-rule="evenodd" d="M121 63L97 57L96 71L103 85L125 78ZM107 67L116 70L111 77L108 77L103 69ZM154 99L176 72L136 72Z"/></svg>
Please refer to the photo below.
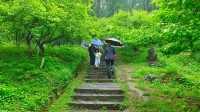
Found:
<svg viewBox="0 0 200 112"><path fill-rule="evenodd" d="M123 46L123 43L116 38L107 38L107 39L105 39L105 42L110 43L114 47L122 47Z"/></svg>

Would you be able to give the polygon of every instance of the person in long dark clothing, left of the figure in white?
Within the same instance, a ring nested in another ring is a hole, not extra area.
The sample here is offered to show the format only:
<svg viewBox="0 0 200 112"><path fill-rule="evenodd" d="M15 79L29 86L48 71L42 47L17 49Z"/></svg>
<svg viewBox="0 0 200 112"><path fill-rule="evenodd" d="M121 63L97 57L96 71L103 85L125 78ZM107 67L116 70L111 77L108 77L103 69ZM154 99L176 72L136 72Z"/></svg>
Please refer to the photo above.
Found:
<svg viewBox="0 0 200 112"><path fill-rule="evenodd" d="M88 48L89 56L90 56L90 65L94 65L95 63L95 46L91 44L91 46Z"/></svg>

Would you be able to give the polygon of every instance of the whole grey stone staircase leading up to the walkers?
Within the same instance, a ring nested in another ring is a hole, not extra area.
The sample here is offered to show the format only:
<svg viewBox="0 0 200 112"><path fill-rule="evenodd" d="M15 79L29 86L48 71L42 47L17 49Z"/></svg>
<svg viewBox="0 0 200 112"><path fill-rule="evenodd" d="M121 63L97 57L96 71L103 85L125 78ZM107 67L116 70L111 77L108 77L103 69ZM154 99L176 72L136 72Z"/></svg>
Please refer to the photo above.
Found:
<svg viewBox="0 0 200 112"><path fill-rule="evenodd" d="M123 109L123 91L115 82L114 77L108 79L104 63L98 69L89 68L85 83L75 89L75 95L72 98L73 101L69 105L76 111L93 110L97 112L97 110L104 109L108 112L115 112L114 110Z"/></svg>

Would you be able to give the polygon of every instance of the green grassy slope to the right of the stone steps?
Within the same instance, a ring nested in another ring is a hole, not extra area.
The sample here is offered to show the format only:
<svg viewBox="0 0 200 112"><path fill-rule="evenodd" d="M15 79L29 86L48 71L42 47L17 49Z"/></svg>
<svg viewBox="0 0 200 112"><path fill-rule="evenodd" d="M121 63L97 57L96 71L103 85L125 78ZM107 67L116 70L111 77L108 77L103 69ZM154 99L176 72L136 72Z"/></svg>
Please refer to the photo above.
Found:
<svg viewBox="0 0 200 112"><path fill-rule="evenodd" d="M125 48L119 51L123 61L131 63L135 71L132 77L137 87L147 91L150 101L133 101L139 112L198 112L195 103L200 101L200 65L188 55L163 56L159 53L160 67L146 63L146 49L135 53ZM153 82L144 81L144 76L154 74Z"/></svg>

